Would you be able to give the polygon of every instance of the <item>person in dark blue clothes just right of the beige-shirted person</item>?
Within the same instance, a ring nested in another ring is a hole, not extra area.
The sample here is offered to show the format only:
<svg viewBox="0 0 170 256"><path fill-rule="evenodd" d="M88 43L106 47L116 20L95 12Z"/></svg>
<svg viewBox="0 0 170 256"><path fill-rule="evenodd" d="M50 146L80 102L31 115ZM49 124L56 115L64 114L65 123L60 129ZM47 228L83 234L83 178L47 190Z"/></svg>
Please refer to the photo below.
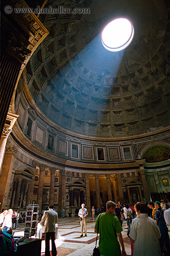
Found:
<svg viewBox="0 0 170 256"><path fill-rule="evenodd" d="M170 255L170 238L168 235L168 228L166 226L166 222L163 216L164 211L161 209L160 202L156 201L154 202L154 206L156 208L155 211L155 221L157 222L157 225L159 227L159 230L161 232L161 238L159 239L159 244L161 247L161 252L163 253L163 246L165 242L165 246L167 249L167 254Z"/></svg>

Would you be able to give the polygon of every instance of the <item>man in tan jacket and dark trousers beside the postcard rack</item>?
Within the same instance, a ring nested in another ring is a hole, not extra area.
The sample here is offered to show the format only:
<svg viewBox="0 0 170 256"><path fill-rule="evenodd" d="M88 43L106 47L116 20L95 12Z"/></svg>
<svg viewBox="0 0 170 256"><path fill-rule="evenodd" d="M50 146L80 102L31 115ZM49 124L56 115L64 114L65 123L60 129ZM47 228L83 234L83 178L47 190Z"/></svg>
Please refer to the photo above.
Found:
<svg viewBox="0 0 170 256"><path fill-rule="evenodd" d="M48 206L48 210L44 213L40 221L40 224L44 226L43 233L45 233L46 242L45 256L50 256L50 238L52 240L52 256L57 255L57 250L55 246L55 224L58 222L58 213L56 211L53 211L53 208L53 204L50 204Z"/></svg>

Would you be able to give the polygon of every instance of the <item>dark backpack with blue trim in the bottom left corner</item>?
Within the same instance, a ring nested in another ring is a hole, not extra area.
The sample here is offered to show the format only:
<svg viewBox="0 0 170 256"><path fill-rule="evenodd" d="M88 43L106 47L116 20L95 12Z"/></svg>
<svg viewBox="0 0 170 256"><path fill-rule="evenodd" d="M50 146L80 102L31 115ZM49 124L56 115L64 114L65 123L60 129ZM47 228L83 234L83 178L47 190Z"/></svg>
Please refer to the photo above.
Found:
<svg viewBox="0 0 170 256"><path fill-rule="evenodd" d="M17 251L17 244L13 236L7 232L0 232L0 256L14 256Z"/></svg>

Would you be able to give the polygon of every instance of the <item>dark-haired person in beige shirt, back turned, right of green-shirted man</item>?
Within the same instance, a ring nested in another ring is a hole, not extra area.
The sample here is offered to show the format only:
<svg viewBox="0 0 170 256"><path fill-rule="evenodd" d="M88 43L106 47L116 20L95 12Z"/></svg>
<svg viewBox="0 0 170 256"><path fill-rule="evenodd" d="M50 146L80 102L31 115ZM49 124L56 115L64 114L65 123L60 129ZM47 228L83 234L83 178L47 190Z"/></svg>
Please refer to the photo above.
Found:
<svg viewBox="0 0 170 256"><path fill-rule="evenodd" d="M147 205L137 202L135 207L138 217L133 219L129 235L134 243L133 256L161 256L161 233L156 222L147 215Z"/></svg>

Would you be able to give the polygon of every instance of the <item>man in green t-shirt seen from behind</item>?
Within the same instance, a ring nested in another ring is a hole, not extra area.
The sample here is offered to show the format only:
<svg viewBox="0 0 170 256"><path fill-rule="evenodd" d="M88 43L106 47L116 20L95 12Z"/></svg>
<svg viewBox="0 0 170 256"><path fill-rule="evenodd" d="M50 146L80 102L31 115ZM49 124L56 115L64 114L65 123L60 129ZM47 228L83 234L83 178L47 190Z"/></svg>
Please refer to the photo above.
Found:
<svg viewBox="0 0 170 256"><path fill-rule="evenodd" d="M99 251L100 256L121 256L120 244L122 246L122 256L126 256L124 250L124 242L121 234L122 227L118 217L113 215L115 212L116 203L112 201L106 202L106 212L100 214L96 219L94 232L98 231L99 221ZM118 234L118 236L117 236ZM119 241L120 244L119 244Z"/></svg>

